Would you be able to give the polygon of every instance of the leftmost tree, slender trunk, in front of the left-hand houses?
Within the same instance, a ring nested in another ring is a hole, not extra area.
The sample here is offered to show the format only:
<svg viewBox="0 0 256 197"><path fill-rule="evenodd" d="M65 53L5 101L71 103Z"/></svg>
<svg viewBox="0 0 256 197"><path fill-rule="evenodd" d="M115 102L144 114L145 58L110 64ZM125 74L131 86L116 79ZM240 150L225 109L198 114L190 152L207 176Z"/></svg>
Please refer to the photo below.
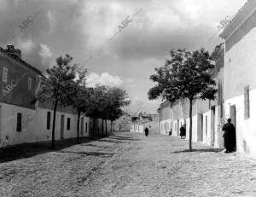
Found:
<svg viewBox="0 0 256 197"><path fill-rule="evenodd" d="M51 101L54 106L52 148L55 148L55 118L57 107L69 106L72 101L70 92L73 91L76 66L71 66L71 61L73 61L73 57L70 55L58 57L56 59L57 65L46 70L49 75L49 85L39 90L36 96L39 101Z"/></svg>

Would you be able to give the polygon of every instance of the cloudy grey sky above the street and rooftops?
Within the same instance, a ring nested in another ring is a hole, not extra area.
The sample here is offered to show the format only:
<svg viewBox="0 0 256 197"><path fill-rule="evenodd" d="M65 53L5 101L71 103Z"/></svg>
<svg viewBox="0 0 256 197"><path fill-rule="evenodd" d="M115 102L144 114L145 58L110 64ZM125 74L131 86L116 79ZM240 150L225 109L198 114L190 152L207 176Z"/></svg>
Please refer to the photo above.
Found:
<svg viewBox="0 0 256 197"><path fill-rule="evenodd" d="M154 113L160 101L148 101L147 96L154 86L149 80L154 67L164 64L170 49L204 47L212 52L221 42L218 34L212 38L219 22L246 2L0 0L0 46L13 43L42 72L58 56L72 55L88 68L88 84L119 86L131 97L128 111ZM124 26L126 19L131 22ZM26 20L31 22L23 28Z"/></svg>

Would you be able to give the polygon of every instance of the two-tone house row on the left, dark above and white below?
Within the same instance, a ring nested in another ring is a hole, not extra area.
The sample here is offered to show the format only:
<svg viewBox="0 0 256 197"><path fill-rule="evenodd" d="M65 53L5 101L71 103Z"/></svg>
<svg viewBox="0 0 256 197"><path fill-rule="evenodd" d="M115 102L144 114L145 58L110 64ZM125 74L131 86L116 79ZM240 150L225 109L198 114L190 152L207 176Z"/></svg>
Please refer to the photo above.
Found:
<svg viewBox="0 0 256 197"><path fill-rule="evenodd" d="M47 78L21 59L21 51L13 46L0 48L0 148L23 142L51 140L53 106L35 101ZM77 136L78 115L73 107L58 107L55 119L55 140ZM100 121L100 120L99 120ZM99 128L108 125L98 124ZM91 121L80 118L80 136L89 136ZM102 134L102 129L99 133Z"/></svg>

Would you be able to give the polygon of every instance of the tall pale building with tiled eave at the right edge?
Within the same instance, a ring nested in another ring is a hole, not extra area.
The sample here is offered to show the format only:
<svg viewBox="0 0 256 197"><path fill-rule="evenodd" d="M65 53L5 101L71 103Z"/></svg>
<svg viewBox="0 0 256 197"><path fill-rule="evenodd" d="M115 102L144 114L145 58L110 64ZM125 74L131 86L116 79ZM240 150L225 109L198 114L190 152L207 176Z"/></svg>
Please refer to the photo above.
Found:
<svg viewBox="0 0 256 197"><path fill-rule="evenodd" d="M224 39L224 111L236 127L239 152L256 153L256 1L248 0L220 37Z"/></svg>

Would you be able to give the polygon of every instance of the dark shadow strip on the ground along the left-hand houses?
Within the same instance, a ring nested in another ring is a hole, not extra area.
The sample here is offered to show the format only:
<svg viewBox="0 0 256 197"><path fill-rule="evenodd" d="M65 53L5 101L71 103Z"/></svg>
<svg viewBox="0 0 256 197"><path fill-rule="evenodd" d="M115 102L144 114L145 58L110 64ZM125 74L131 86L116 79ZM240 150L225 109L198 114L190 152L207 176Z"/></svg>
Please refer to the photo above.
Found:
<svg viewBox="0 0 256 197"><path fill-rule="evenodd" d="M79 144L93 142L100 139L99 137L81 137ZM55 141L55 148L51 148L51 141L22 143L6 148L0 148L0 164L16 159L30 158L37 154L46 154L55 152L64 148L77 145L77 138L70 138L61 141Z"/></svg>

